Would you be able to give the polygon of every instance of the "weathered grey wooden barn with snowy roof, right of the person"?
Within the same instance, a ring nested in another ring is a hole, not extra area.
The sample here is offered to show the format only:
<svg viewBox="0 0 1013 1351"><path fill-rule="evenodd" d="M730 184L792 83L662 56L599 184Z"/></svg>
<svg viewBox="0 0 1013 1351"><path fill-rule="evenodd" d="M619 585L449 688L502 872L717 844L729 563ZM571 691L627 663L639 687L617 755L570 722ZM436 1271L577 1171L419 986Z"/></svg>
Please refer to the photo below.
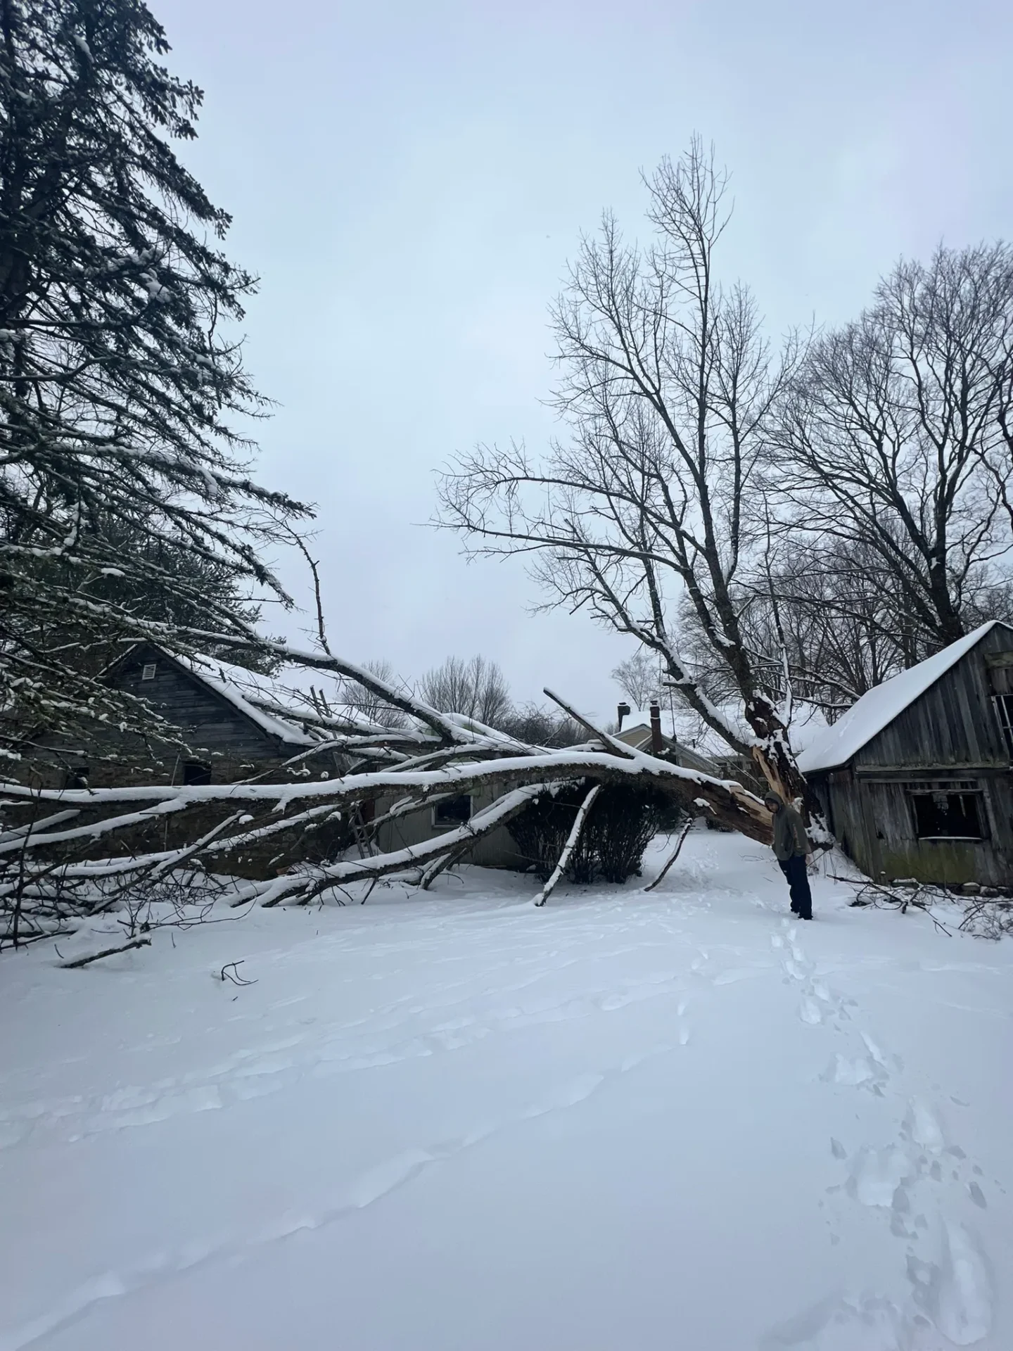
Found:
<svg viewBox="0 0 1013 1351"><path fill-rule="evenodd" d="M798 757L875 880L1013 884L1013 628L991 620L864 694Z"/></svg>

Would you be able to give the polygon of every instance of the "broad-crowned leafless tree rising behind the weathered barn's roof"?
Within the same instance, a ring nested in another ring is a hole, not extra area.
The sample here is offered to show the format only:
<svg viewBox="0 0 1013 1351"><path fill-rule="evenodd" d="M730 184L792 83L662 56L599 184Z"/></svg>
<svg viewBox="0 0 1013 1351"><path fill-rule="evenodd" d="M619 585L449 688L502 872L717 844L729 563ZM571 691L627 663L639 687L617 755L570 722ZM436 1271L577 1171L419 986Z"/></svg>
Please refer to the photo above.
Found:
<svg viewBox="0 0 1013 1351"><path fill-rule="evenodd" d="M779 401L770 477L794 504L787 527L823 571L864 574L904 665L1008 592L1012 332L1008 246L939 249L928 266L898 263L860 319L814 342Z"/></svg>

